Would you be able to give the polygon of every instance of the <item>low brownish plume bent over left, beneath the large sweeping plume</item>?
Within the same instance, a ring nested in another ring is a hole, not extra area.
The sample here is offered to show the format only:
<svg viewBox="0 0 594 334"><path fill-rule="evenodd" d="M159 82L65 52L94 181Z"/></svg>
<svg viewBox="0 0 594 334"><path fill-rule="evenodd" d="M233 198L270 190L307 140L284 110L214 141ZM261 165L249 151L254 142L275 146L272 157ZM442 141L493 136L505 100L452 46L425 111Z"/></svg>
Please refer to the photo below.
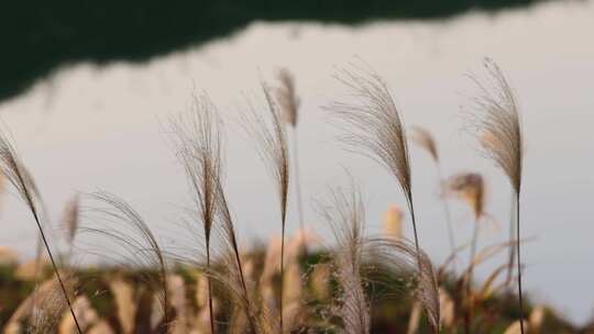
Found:
<svg viewBox="0 0 594 334"><path fill-rule="evenodd" d="M371 264L387 268L391 272L410 272L415 283L413 296L427 314L433 333L439 332L440 299L437 276L429 256L425 252L418 253L415 245L403 238L374 237L367 240L365 258ZM417 265L420 259L420 266ZM420 269L419 269L420 267Z"/></svg>

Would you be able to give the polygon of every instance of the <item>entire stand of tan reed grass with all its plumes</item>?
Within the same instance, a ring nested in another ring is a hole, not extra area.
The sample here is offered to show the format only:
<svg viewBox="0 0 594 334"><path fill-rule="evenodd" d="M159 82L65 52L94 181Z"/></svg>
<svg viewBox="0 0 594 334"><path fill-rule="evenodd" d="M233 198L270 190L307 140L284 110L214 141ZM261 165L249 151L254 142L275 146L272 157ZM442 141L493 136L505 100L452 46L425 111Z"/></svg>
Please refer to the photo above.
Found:
<svg viewBox="0 0 594 334"><path fill-rule="evenodd" d="M277 197L278 205L263 201L260 209L279 213L280 237L263 245L245 246L238 235L237 222L243 216L232 210L224 177L227 124L206 92L195 93L190 110L173 118L168 129L189 186L190 207L179 218L185 224L167 225L174 237L163 237L114 194L76 194L62 218L68 266L61 266L59 248L51 247L61 241L45 233L51 226L32 176L0 135L2 174L33 214L40 245L50 258L37 256L32 266L10 258L3 261L0 253L0 326L11 334L578 333L549 308L532 308L524 300L521 124L502 70L492 60L485 66L487 79L474 79L481 93L473 100L479 113L470 124L483 153L512 185L517 223L516 238L490 245L479 243L487 216L484 177L474 171L443 176L436 138L422 127L407 137L387 84L365 66L353 65L337 75L350 94L326 110L340 124L341 140L350 151L376 160L396 179L410 212L413 241L403 229L406 219L398 204L387 208L383 234L374 234L363 191L352 177L349 185L332 185L315 201L329 233L315 224L312 231L305 231L295 136L301 100L286 69L278 73L277 86L262 84L265 110L250 104L242 119ZM295 145L290 156L289 130ZM419 243L408 140L438 166L451 248L443 261L431 258ZM300 226L293 235L287 233L289 186L296 187ZM450 220L455 215L448 196L464 201L473 212L474 232L468 245L454 240ZM266 227L261 224L251 227ZM333 241L327 242L328 235ZM191 242L178 241L184 236ZM305 246L308 250L301 252ZM465 268L451 270L458 253L469 247ZM507 263L482 282L473 276L479 266L509 248L517 249L518 256L518 305L508 302L515 296L506 289L510 280L503 279ZM76 265L78 256L88 255L95 255L101 266ZM4 291L4 281L16 288ZM526 325L522 316L530 310Z"/></svg>

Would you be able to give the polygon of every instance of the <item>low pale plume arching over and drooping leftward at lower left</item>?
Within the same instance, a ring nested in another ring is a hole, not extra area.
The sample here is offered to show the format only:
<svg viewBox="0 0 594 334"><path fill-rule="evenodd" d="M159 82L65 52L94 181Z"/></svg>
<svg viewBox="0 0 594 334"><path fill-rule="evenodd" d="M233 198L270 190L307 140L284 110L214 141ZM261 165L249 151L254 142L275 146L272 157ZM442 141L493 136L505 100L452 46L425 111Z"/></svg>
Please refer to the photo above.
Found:
<svg viewBox="0 0 594 334"><path fill-rule="evenodd" d="M80 226L80 234L101 236L96 252L102 259L120 260L140 269L140 278L155 296L165 331L170 325L167 261L157 238L142 216L123 199L106 191L88 196L94 201L94 226ZM99 226L99 227L95 227ZM113 257L110 257L112 253ZM152 272L154 270L154 272Z"/></svg>

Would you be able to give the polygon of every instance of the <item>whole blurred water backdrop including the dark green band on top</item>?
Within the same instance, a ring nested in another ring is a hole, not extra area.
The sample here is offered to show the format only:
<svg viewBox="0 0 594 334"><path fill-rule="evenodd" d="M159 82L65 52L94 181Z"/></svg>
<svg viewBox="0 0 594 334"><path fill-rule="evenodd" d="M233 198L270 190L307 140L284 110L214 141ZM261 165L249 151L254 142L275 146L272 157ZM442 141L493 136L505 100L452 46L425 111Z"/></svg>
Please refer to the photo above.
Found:
<svg viewBox="0 0 594 334"><path fill-rule="evenodd" d="M52 216L58 220L78 191L108 190L129 200L169 244L176 235L168 227L189 197L167 123L189 108L197 89L210 93L229 125L227 180L240 237L250 244L279 234L274 190L238 124L248 100L262 102L260 80L272 80L279 67L295 74L302 100L307 225L324 235L309 204L329 185L343 182L344 168L363 186L370 232L381 229L389 204L404 207L381 167L342 149L321 108L343 96L332 76L353 62L386 79L407 125L435 133L447 174L487 177L492 221L481 243L505 240L509 186L462 131L475 91L466 75L481 73L483 57L494 58L519 96L527 136L522 234L534 240L522 249L525 287L578 324L592 315L594 1L62 1L0 8L0 118ZM414 147L411 155L419 235L441 261L449 246L437 174L425 152ZM459 240L470 238L471 212L454 209ZM297 227L295 218L289 212L289 231ZM32 257L35 226L10 193L1 199L0 224L0 245ZM491 269L481 268L479 278Z"/></svg>

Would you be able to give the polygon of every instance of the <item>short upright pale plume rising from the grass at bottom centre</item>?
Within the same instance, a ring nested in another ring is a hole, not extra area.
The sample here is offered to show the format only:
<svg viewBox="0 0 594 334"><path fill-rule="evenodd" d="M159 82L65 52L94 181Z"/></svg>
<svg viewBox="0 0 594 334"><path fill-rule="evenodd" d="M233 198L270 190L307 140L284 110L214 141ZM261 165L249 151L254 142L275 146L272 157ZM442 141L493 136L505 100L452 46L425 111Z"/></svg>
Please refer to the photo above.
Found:
<svg viewBox="0 0 594 334"><path fill-rule="evenodd" d="M342 333L370 333L370 305L360 271L363 264L365 219L361 193L354 187L350 190L332 189L329 201L318 203L318 211L331 227L337 242L336 279L340 286L337 316L343 321Z"/></svg>

